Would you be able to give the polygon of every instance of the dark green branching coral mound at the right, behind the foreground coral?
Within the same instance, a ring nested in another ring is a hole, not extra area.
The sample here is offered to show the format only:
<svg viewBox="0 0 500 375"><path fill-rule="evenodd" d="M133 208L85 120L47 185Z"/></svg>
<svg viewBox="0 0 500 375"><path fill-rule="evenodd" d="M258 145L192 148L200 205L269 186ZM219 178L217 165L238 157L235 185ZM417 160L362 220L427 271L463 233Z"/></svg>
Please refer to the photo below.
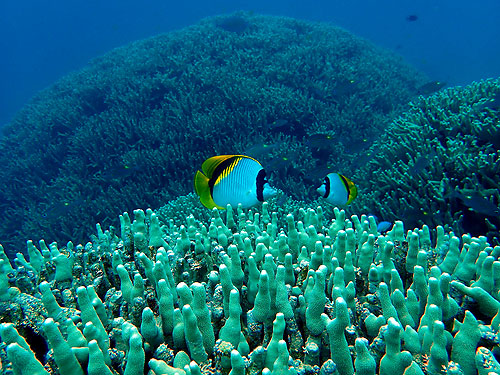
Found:
<svg viewBox="0 0 500 375"><path fill-rule="evenodd" d="M499 98L497 78L411 103L353 176L353 209L500 243Z"/></svg>

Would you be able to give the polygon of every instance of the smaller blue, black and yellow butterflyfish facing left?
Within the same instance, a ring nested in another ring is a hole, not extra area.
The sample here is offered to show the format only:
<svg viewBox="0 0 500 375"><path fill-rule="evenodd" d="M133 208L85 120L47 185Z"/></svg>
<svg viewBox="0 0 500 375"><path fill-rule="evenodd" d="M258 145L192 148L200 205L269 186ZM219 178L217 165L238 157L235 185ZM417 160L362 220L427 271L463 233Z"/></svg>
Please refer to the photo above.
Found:
<svg viewBox="0 0 500 375"><path fill-rule="evenodd" d="M340 173L329 173L316 191L328 203L337 206L350 204L358 195L356 185Z"/></svg>

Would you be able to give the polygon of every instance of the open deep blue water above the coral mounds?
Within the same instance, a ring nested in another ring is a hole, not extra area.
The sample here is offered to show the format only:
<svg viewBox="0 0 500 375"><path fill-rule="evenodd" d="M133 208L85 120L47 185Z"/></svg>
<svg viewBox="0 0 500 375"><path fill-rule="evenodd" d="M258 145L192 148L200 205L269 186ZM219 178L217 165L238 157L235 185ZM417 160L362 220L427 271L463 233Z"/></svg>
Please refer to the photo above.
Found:
<svg viewBox="0 0 500 375"><path fill-rule="evenodd" d="M499 0L2 0L0 125L95 56L236 10L334 23L449 85L500 76Z"/></svg>

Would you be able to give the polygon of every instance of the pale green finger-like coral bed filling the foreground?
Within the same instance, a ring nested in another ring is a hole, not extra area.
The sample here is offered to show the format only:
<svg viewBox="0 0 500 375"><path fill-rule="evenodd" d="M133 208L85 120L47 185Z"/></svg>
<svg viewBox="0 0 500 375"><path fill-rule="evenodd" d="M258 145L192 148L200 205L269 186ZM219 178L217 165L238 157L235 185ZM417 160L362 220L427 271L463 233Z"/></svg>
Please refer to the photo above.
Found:
<svg viewBox="0 0 500 375"><path fill-rule="evenodd" d="M268 204L120 223L85 246L28 242L13 264L0 252L1 374L500 371L484 236Z"/></svg>

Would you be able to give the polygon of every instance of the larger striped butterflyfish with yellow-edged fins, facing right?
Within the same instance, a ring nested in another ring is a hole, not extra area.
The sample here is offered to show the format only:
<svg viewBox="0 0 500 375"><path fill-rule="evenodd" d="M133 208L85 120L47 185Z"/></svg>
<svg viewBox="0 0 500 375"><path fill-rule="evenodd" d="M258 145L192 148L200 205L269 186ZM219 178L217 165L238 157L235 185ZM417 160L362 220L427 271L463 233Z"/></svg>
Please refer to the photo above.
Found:
<svg viewBox="0 0 500 375"><path fill-rule="evenodd" d="M262 165L245 155L218 155L203 162L194 176L194 189L207 208L225 209L227 204L255 206L276 194Z"/></svg>

